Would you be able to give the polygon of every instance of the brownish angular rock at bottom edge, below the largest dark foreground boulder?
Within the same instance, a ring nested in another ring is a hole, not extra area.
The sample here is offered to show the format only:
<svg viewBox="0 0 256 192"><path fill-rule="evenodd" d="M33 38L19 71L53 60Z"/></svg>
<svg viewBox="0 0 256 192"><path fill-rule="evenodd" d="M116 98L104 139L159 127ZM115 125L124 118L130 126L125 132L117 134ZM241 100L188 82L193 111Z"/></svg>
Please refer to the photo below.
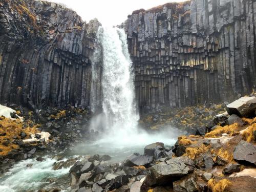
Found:
<svg viewBox="0 0 256 192"><path fill-rule="evenodd" d="M174 192L194 192L198 191L197 183L193 177L184 178L173 182Z"/></svg>

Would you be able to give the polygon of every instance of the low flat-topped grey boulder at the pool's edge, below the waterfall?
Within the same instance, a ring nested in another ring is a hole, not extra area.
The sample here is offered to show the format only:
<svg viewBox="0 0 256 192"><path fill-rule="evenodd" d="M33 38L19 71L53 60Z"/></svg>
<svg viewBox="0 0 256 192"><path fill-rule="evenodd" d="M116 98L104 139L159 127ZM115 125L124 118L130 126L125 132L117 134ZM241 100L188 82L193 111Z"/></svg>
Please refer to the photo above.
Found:
<svg viewBox="0 0 256 192"><path fill-rule="evenodd" d="M125 166L139 166L139 165L148 165L153 162L153 156L140 155L134 153L133 155L127 157L124 162Z"/></svg>

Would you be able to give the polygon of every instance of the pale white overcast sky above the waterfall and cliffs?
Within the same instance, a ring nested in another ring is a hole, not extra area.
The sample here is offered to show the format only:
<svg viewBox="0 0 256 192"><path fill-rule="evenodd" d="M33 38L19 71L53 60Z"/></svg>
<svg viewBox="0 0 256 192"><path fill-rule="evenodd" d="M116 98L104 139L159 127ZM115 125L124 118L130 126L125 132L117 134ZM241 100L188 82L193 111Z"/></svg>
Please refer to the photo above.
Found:
<svg viewBox="0 0 256 192"><path fill-rule="evenodd" d="M169 2L183 2L184 0L47 0L65 4L86 20L98 18L103 25L119 25L126 20L127 15L137 9L150 9Z"/></svg>

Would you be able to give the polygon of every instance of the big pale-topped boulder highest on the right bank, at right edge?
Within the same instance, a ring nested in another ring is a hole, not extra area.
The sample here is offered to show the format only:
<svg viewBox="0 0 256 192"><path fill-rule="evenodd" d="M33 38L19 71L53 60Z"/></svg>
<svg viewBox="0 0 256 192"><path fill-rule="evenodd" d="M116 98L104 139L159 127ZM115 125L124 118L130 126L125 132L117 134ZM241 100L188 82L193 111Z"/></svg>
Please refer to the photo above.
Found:
<svg viewBox="0 0 256 192"><path fill-rule="evenodd" d="M241 97L226 106L229 115L236 114L240 117L254 115L256 110L256 97Z"/></svg>

